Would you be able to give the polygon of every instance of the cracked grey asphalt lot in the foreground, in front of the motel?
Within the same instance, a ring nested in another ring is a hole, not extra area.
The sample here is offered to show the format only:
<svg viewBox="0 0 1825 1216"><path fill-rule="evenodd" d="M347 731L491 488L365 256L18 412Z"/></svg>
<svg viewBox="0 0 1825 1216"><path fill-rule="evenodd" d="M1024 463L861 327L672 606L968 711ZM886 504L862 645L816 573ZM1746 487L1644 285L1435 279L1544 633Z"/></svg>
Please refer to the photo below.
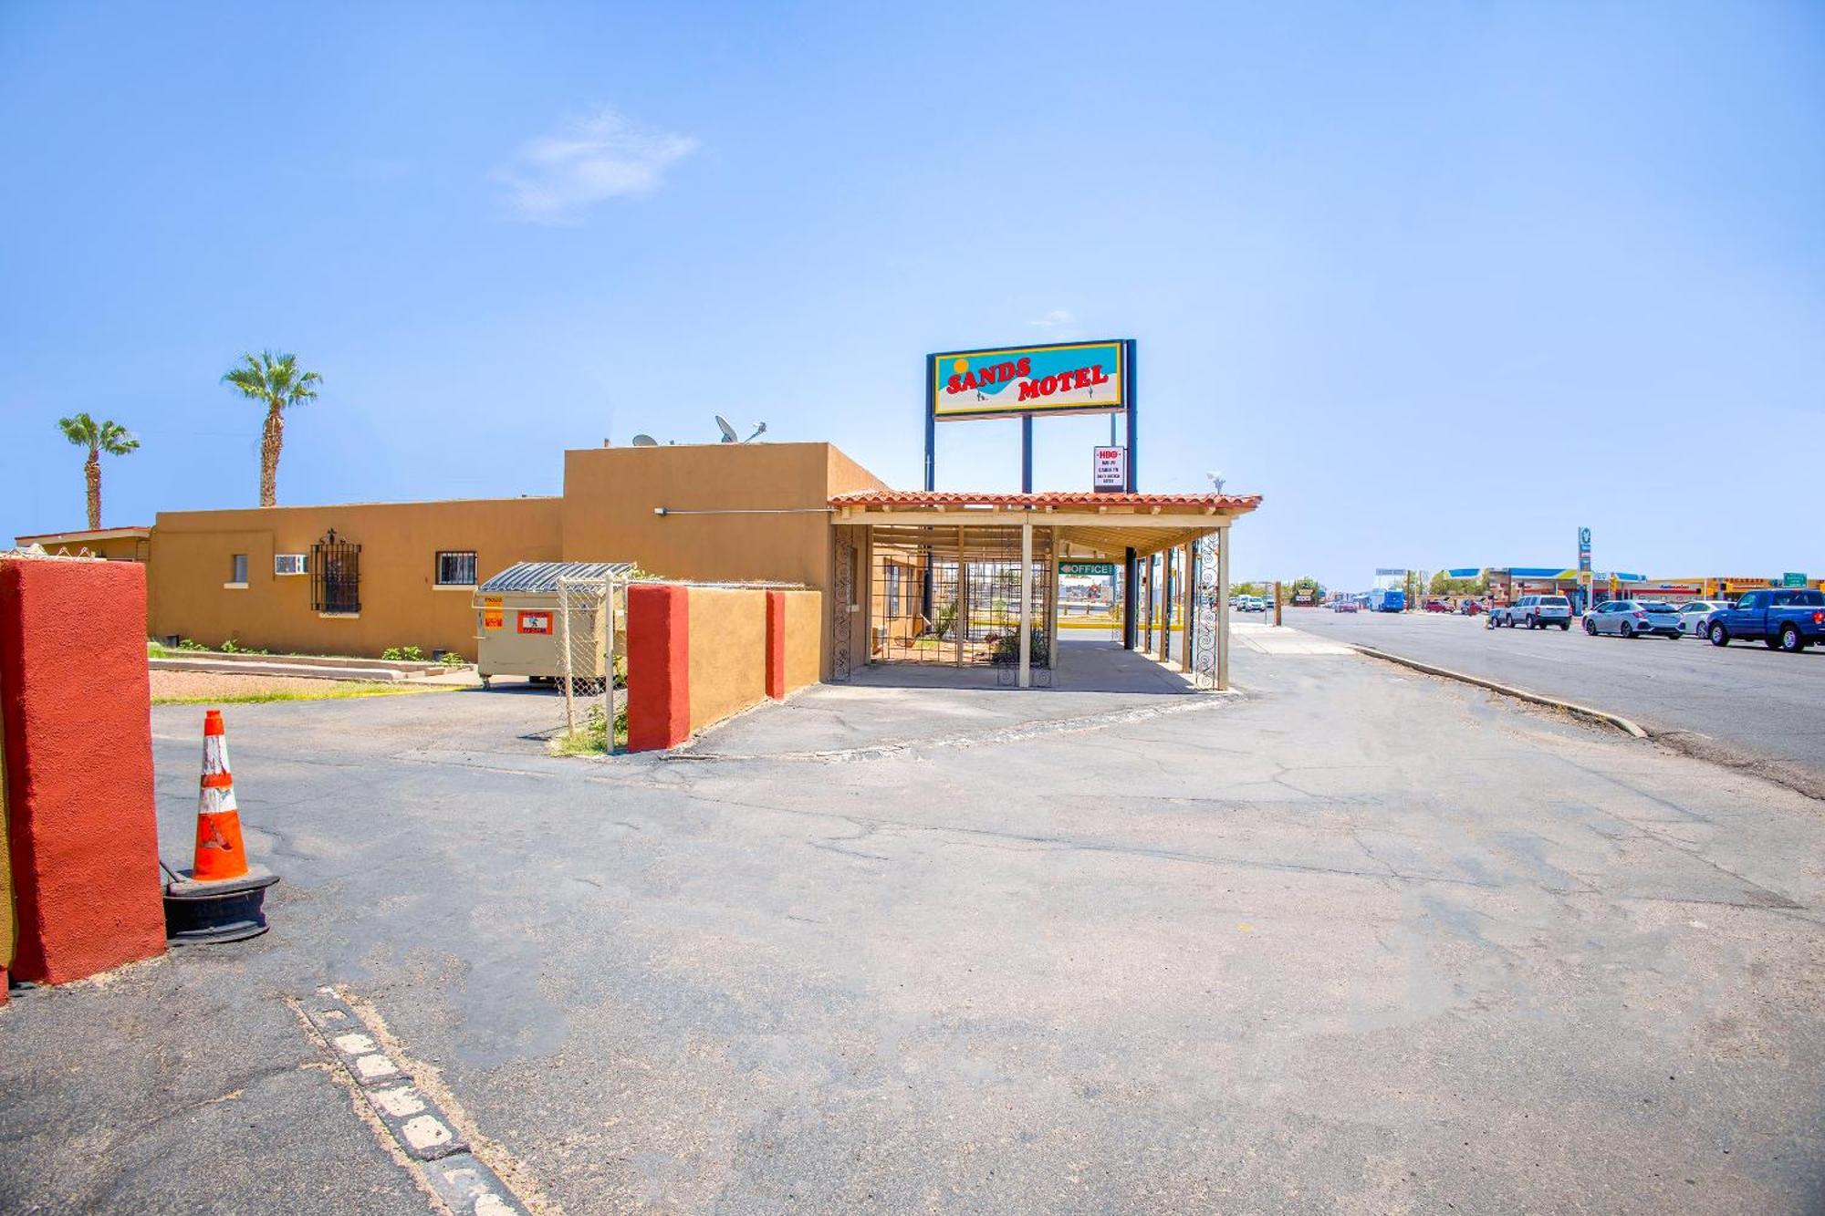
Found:
<svg viewBox="0 0 1825 1216"><path fill-rule="evenodd" d="M232 708L274 931L0 1015L0 1209L427 1211L287 1006L330 982L544 1211L1825 1205L1816 802L1321 646L1236 677L819 687L677 760L546 758L538 694Z"/></svg>

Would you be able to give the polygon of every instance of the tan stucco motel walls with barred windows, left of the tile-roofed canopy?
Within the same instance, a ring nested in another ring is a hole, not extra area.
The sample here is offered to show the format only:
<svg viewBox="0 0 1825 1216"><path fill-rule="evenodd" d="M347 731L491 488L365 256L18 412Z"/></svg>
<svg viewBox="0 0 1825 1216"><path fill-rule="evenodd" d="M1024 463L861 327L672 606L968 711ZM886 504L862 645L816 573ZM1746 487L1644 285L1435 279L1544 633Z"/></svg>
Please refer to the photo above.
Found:
<svg viewBox="0 0 1825 1216"><path fill-rule="evenodd" d="M558 497L161 511L150 529L20 540L148 562L155 639L473 659L474 584L513 562L823 590L829 500L881 486L830 444L597 447L564 453ZM349 577L325 579L330 568Z"/></svg>

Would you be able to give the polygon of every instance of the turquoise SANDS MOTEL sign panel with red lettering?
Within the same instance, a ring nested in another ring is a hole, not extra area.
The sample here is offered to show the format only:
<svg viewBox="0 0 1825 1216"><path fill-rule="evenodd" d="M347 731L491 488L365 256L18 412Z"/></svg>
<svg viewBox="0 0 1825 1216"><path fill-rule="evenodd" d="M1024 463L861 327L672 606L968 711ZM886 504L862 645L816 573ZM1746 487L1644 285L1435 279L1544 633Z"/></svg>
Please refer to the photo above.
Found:
<svg viewBox="0 0 1825 1216"><path fill-rule="evenodd" d="M1108 414L1128 409L1128 343L944 351L931 356L931 413L938 422L1022 414Z"/></svg>

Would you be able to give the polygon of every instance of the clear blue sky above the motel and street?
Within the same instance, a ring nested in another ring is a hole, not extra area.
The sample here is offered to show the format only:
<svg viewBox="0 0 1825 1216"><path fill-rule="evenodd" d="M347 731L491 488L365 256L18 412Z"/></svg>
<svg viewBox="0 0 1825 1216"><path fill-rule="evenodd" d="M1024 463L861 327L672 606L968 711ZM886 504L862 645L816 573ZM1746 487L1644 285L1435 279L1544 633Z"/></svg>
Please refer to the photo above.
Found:
<svg viewBox="0 0 1825 1216"><path fill-rule="evenodd" d="M922 469L929 351L1137 338L1236 573L1825 573L1825 5L0 5L0 533L557 493L723 413ZM1044 420L1088 487L1100 418ZM940 427L1017 487L1013 422Z"/></svg>

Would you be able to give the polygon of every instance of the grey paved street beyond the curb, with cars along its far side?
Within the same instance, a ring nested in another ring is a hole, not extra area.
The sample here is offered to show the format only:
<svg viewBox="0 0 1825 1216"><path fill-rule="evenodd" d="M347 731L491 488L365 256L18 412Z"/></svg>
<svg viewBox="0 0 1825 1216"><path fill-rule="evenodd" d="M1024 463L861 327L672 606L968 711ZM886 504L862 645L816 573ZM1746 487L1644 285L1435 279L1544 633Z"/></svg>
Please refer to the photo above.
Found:
<svg viewBox="0 0 1825 1216"><path fill-rule="evenodd" d="M1261 619L1261 617L1241 617ZM1695 637L1487 630L1482 617L1287 610L1285 623L1610 710L1699 756L1825 798L1825 650L1779 654Z"/></svg>

